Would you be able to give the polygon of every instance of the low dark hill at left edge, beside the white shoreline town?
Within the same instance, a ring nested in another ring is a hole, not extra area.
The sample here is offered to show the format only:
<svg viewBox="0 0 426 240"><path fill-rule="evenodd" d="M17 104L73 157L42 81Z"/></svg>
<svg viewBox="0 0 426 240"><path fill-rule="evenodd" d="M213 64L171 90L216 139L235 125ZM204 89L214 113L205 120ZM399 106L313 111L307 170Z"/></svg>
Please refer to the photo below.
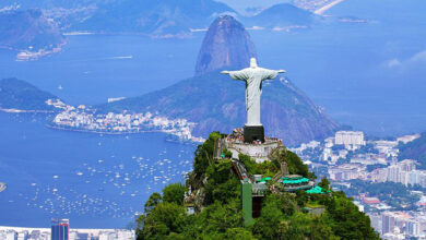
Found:
<svg viewBox="0 0 426 240"><path fill-rule="evenodd" d="M55 110L54 106L46 104L47 99L58 99L58 97L17 79L0 80L0 108Z"/></svg>

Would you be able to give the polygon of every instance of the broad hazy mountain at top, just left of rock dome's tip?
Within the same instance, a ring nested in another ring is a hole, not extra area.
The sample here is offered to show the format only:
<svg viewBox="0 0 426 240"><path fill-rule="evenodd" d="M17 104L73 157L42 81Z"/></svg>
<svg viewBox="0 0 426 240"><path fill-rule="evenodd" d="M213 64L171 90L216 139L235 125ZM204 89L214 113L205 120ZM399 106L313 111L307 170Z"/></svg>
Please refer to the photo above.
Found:
<svg viewBox="0 0 426 240"><path fill-rule="evenodd" d="M203 28L223 12L234 12L213 0L117 0L98 4L87 20L74 25L79 31L138 32L153 36L189 33Z"/></svg>

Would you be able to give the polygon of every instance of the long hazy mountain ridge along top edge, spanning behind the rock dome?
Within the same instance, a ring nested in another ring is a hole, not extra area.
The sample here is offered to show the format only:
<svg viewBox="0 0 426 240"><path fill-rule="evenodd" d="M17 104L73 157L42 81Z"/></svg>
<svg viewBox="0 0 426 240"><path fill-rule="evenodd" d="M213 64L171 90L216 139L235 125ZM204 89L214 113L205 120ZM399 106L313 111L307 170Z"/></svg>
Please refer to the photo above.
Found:
<svg viewBox="0 0 426 240"><path fill-rule="evenodd" d="M246 26L267 29L310 25L316 20L311 12L287 3L273 5L252 17L244 17L214 0L7 0L0 3L0 9L10 5L25 11L39 8L67 32L138 33L152 37L188 37L222 14L238 16Z"/></svg>

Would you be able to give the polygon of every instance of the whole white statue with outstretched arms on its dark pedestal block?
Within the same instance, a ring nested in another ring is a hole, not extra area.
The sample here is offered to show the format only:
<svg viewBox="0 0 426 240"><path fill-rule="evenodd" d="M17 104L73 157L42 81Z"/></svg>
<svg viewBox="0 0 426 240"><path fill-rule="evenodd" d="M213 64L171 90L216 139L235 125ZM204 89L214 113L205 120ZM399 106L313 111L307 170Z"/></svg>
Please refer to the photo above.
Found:
<svg viewBox="0 0 426 240"><path fill-rule="evenodd" d="M263 80L272 80L284 70L269 70L259 68L255 58L250 59L250 67L240 71L223 71L234 80L246 82L247 122L244 128L245 142L264 142L264 129L260 123L260 96L262 95Z"/></svg>

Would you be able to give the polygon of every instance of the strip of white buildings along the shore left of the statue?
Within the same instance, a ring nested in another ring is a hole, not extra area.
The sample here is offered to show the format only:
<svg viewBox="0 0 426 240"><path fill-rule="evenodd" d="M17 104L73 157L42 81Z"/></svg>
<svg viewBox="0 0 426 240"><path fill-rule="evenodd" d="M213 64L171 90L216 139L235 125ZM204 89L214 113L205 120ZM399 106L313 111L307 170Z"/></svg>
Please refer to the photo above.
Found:
<svg viewBox="0 0 426 240"><path fill-rule="evenodd" d="M171 134L179 141L204 141L202 137L196 137L191 134L194 123L186 119L170 120L151 112L128 113L123 111L104 115L96 113L95 110L84 105L73 107L57 101L47 104L63 109L52 120L54 128L108 134L158 131Z"/></svg>

